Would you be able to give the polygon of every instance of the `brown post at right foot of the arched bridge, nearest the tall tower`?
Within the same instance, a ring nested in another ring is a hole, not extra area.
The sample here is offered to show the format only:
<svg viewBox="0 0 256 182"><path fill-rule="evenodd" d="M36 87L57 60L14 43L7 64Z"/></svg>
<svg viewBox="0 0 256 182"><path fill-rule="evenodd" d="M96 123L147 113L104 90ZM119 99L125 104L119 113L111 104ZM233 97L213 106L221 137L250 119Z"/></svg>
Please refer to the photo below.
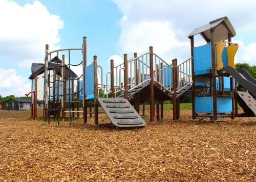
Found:
<svg viewBox="0 0 256 182"><path fill-rule="evenodd" d="M176 87L177 87L177 67L176 59L173 59L173 120L177 118L177 98L176 98Z"/></svg>

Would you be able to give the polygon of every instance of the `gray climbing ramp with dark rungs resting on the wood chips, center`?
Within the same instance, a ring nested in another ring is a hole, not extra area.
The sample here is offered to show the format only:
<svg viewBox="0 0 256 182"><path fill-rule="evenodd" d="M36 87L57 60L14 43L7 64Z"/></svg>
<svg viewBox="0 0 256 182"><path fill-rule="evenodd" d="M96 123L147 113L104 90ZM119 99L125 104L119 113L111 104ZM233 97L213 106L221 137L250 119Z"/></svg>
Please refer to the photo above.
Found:
<svg viewBox="0 0 256 182"><path fill-rule="evenodd" d="M98 101L111 122L117 127L141 127L146 125L146 122L128 100L124 98L98 98Z"/></svg>

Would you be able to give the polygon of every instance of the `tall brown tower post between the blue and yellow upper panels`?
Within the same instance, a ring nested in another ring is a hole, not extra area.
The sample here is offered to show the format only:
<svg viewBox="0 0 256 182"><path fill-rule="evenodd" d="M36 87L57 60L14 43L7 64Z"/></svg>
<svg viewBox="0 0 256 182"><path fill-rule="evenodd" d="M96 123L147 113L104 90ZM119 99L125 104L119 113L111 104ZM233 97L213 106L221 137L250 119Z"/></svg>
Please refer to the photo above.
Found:
<svg viewBox="0 0 256 182"><path fill-rule="evenodd" d="M212 77L212 99L214 105L214 122L217 122L217 90L216 90L216 60L215 60L215 42L214 31L210 30L211 39L211 77Z"/></svg>

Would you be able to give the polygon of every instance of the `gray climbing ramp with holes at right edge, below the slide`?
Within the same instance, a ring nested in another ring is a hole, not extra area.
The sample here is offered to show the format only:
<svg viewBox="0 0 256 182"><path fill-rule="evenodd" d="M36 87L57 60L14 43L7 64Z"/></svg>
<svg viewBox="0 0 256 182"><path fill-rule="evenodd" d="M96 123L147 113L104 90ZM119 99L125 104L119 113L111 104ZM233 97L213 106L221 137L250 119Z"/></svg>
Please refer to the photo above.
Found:
<svg viewBox="0 0 256 182"><path fill-rule="evenodd" d="M238 91L238 103L248 115L256 116L256 101L248 92Z"/></svg>

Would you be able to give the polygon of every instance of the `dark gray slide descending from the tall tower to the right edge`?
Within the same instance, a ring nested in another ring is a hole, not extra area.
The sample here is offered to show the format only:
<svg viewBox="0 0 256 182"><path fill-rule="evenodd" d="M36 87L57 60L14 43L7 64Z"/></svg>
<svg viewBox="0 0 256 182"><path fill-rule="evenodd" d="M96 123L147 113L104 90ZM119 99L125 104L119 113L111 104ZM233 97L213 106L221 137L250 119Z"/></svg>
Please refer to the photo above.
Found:
<svg viewBox="0 0 256 182"><path fill-rule="evenodd" d="M248 80L247 74L241 74L236 69L231 66L225 66L222 70L218 71L219 74L231 75L236 79L236 81L243 86L245 89L249 90L254 96L256 96L256 85ZM248 73L249 74L249 73Z"/></svg>

